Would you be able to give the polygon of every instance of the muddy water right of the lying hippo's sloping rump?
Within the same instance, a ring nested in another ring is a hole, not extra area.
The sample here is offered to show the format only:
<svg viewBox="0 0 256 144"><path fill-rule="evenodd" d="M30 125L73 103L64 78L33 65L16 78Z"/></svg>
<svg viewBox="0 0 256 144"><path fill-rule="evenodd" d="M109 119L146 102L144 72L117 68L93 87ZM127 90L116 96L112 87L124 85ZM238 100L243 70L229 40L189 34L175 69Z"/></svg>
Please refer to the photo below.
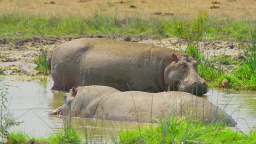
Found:
<svg viewBox="0 0 256 144"><path fill-rule="evenodd" d="M248 133L256 126L256 92L223 91L211 89L206 99L229 113L237 122L236 127Z"/></svg>

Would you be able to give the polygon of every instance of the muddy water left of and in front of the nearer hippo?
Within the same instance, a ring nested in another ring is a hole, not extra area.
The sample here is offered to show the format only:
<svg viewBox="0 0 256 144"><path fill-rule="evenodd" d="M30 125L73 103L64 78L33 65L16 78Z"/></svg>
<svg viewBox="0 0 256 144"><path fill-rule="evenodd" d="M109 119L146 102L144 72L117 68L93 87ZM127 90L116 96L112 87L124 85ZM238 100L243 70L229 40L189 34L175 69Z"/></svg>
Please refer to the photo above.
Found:
<svg viewBox="0 0 256 144"><path fill-rule="evenodd" d="M65 92L53 92L50 88L53 81L48 79L34 79L33 77L0 77L0 83L8 85L8 107L9 112L18 117L18 121L23 121L18 127L11 129L24 130L34 136L48 137L63 128L63 121L66 117L48 116L50 110L63 105L63 94ZM1 85L2 86L2 85ZM136 129L137 123L106 121L102 122L94 119L74 118L73 125L94 140L110 139L110 136L118 134L121 129ZM148 127L148 124L140 124ZM105 143L104 142L104 143Z"/></svg>

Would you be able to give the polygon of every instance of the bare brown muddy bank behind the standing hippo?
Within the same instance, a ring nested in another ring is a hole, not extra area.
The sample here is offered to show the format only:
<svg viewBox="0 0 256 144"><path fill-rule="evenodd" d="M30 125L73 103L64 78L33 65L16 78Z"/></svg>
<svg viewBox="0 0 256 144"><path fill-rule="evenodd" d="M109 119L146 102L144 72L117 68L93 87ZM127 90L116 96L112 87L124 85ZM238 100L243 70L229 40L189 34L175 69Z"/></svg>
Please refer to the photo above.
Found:
<svg viewBox="0 0 256 144"><path fill-rule="evenodd" d="M104 38L102 35L82 35L80 38ZM108 37L111 38L111 37ZM112 38L113 39L113 38ZM167 38L167 39L155 39L149 37L123 37L119 40L130 39L132 42L137 43L147 43L157 46L165 46L175 50L185 50L187 48L187 41L184 39L177 38ZM72 40L72 38L45 38L42 36L37 36L32 39L7 41L0 39L1 55L0 55L0 68L5 70L6 75L28 75L28 76L38 76L40 74L38 70L35 70L36 65L33 59L38 56L39 46L43 46L50 53L55 49L55 47L65 41ZM237 41L199 41L198 46L203 51L206 57L213 56L228 56L230 59L236 61L243 61L247 52L243 50L241 43ZM219 62L216 62L217 65ZM222 63L222 62L220 62ZM223 64L224 70L231 70L235 65Z"/></svg>

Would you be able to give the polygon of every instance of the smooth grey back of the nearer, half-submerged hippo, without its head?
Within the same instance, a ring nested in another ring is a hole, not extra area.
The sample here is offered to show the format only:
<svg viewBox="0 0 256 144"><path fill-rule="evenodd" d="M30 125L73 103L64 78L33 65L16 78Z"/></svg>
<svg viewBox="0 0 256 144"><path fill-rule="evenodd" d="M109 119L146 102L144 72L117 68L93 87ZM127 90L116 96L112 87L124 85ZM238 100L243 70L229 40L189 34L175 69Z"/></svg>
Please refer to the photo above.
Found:
<svg viewBox="0 0 256 144"><path fill-rule="evenodd" d="M203 123L236 122L218 106L185 92L115 92L91 101L89 118L128 122L158 122L161 118L193 118Z"/></svg>

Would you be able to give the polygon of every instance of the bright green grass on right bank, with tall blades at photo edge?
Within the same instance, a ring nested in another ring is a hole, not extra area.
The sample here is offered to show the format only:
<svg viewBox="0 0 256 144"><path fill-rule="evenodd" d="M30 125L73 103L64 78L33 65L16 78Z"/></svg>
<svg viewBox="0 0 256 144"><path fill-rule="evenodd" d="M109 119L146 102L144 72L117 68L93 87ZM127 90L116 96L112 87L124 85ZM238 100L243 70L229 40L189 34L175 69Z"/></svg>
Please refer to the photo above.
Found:
<svg viewBox="0 0 256 144"><path fill-rule="evenodd" d="M225 77L229 81L229 88L236 90L256 90L256 27L249 29L247 39L250 41L251 46L247 47L248 54L245 61L234 62L226 58L225 63L238 65L238 68L232 70L230 73L225 73L221 69L222 63L219 64L219 69L211 67L211 64L199 65L199 75L209 81L213 81L213 87L219 87L220 82ZM219 59L222 61L223 59ZM206 61L207 62L207 61ZM211 69L212 68L212 69ZM218 82L216 82L218 79Z"/></svg>

